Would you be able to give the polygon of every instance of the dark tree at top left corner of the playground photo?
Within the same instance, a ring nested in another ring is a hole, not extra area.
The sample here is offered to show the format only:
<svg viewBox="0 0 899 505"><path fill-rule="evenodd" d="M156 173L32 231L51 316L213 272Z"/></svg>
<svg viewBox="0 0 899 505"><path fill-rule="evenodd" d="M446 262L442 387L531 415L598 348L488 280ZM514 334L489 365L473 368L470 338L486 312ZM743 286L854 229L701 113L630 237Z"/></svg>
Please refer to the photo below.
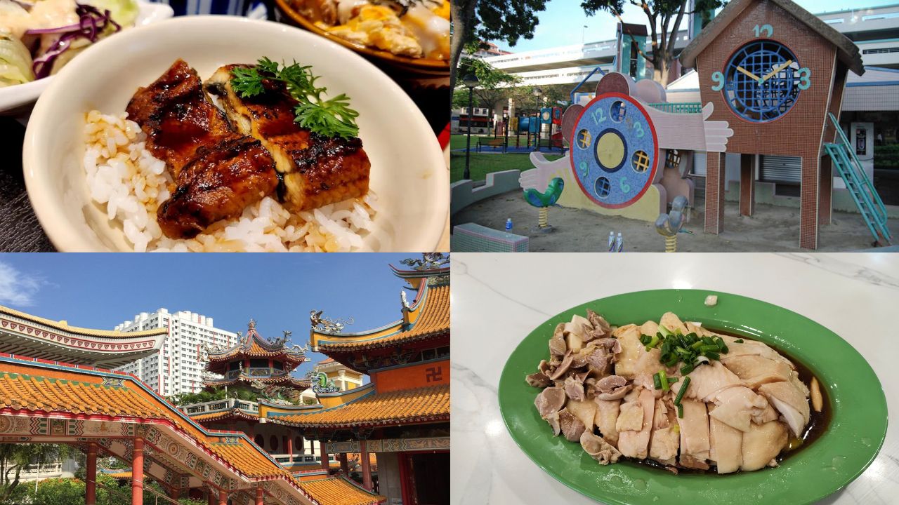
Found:
<svg viewBox="0 0 899 505"><path fill-rule="evenodd" d="M449 57L449 86L456 88L457 66L462 49L476 40L505 40L510 46L520 38L533 39L547 0L453 0L453 37ZM464 74L461 74L464 75Z"/></svg>

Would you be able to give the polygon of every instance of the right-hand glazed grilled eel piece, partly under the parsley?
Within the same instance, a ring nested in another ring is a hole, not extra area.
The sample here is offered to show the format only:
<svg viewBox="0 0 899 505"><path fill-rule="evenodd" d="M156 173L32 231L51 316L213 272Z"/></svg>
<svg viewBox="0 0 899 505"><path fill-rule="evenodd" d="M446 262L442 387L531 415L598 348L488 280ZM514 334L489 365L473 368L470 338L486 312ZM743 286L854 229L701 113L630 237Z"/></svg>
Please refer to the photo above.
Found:
<svg viewBox="0 0 899 505"><path fill-rule="evenodd" d="M264 81L265 92L240 98L231 87L231 69L219 68L206 81L238 131L263 142L283 179L279 199L292 211L319 208L369 191L369 156L359 138L323 137L294 122L297 102L283 84Z"/></svg>

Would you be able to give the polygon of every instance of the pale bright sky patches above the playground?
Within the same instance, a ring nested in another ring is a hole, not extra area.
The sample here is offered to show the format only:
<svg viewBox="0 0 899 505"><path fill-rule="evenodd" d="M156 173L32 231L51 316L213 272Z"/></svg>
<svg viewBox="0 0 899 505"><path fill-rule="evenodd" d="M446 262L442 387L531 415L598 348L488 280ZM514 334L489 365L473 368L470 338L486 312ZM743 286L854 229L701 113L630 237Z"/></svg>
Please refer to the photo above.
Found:
<svg viewBox="0 0 899 505"><path fill-rule="evenodd" d="M868 8L877 5L895 4L897 0L794 0L813 13L842 11L852 8ZM547 2L547 10L538 13L540 20L531 40L519 39L515 47L510 47L505 41L493 42L507 51L527 51L533 49L547 49L558 46L580 44L582 41L595 42L599 40L612 40L615 38L615 27L618 20L610 13L604 11L587 17L581 8L581 0L550 0ZM625 2L625 22L646 24L646 16L635 5ZM584 25L587 28L582 28ZM687 28L686 19L681 22L681 28Z"/></svg>

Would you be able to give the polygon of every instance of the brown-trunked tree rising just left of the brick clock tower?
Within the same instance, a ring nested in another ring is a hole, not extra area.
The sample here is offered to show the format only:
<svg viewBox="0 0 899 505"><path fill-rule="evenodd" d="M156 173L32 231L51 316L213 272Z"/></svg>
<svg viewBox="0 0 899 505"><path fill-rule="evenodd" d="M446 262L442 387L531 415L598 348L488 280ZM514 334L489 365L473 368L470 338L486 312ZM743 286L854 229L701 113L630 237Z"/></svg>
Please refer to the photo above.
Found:
<svg viewBox="0 0 899 505"><path fill-rule="evenodd" d="M636 5L645 13L649 21L650 42L652 55L647 55L638 47L638 51L646 61L653 64L653 80L663 85L668 84L668 73L674 61L674 42L677 40L677 32L681 29L683 16L692 13L687 12L689 0L627 0L631 5ZM605 11L615 16L619 22L624 10L625 0L583 0L581 6L588 16L599 11ZM717 9L723 4L721 0L696 0L694 12L703 13L708 17L708 11ZM708 20L706 20L708 21ZM634 36L631 40L636 45Z"/></svg>

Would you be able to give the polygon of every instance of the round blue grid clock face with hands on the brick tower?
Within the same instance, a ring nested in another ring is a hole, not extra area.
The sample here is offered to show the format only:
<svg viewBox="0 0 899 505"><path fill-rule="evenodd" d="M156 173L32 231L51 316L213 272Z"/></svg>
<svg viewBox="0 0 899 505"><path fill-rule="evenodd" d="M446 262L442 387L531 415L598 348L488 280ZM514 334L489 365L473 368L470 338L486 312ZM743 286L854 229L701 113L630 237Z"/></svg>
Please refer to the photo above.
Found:
<svg viewBox="0 0 899 505"><path fill-rule="evenodd" d="M717 84L712 89L724 88L727 104L744 120L764 123L786 114L810 78L811 72L786 46L754 40L736 50L723 75L712 75Z"/></svg>

